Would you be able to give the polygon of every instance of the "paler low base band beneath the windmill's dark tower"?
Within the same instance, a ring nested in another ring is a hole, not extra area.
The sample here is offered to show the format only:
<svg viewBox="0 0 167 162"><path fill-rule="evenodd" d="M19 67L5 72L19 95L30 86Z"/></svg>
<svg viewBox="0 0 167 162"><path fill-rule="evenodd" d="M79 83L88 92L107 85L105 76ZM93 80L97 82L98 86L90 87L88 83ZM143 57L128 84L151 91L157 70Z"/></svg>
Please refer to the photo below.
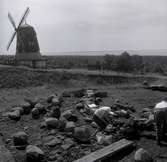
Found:
<svg viewBox="0 0 167 162"><path fill-rule="evenodd" d="M34 53L16 53L17 60L24 61L34 61L34 60L43 60L39 52Z"/></svg>

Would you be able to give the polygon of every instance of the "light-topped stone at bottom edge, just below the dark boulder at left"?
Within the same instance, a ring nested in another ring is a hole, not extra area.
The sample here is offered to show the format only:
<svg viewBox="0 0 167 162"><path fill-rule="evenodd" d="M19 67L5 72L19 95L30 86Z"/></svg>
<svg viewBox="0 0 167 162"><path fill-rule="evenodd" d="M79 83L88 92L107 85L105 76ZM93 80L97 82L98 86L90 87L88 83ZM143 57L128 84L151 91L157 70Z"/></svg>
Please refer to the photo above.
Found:
<svg viewBox="0 0 167 162"><path fill-rule="evenodd" d="M28 145L26 147L27 162L42 162L45 155L44 152L37 146Z"/></svg>

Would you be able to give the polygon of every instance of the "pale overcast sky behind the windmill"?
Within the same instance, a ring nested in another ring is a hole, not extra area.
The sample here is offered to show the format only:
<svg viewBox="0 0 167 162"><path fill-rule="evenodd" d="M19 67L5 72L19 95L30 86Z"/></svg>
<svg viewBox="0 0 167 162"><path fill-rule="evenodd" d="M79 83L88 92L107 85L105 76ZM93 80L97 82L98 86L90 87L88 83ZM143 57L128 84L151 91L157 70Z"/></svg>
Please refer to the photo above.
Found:
<svg viewBox="0 0 167 162"><path fill-rule="evenodd" d="M167 49L167 0L0 0L0 52L27 6L42 52Z"/></svg>

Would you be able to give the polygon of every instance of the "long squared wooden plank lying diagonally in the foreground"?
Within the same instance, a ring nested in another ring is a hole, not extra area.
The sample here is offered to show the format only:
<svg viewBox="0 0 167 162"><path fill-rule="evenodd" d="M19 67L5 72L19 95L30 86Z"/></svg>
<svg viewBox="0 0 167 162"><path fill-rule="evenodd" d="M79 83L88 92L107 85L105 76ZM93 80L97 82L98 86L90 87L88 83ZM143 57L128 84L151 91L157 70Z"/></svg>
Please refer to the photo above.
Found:
<svg viewBox="0 0 167 162"><path fill-rule="evenodd" d="M86 155L81 159L75 160L74 162L96 162L98 160L104 160L105 158L132 146L134 146L133 141L122 139L100 150L92 152L91 154Z"/></svg>

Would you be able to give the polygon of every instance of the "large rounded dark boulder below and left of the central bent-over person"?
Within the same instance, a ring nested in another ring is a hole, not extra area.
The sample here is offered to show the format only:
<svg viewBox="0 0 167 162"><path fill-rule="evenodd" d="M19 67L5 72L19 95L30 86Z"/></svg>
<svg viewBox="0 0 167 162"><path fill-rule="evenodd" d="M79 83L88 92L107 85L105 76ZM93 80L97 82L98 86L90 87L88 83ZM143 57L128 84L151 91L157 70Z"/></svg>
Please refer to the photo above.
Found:
<svg viewBox="0 0 167 162"><path fill-rule="evenodd" d="M92 133L89 127L81 126L74 129L74 138L79 142L89 142Z"/></svg>

